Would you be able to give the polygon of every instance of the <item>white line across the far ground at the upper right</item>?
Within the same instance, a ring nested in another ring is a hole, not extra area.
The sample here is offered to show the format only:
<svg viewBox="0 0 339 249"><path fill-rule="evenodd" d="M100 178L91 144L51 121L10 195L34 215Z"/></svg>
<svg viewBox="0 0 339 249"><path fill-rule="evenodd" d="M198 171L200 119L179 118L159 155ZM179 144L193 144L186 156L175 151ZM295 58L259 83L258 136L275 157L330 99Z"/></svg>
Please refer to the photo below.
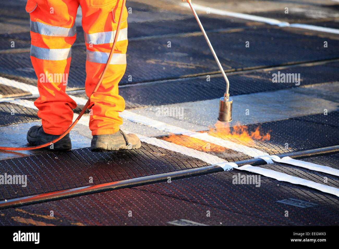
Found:
<svg viewBox="0 0 339 249"><path fill-rule="evenodd" d="M186 8L190 8L190 5L185 4L185 3L180 3L180 5ZM204 11L204 12L206 12L207 10L207 7L196 4L196 3L194 4L194 8L199 11ZM279 27L294 27L294 28L310 29L310 30L332 33L332 34L339 34L339 29L336 29L336 28L326 28L326 27L314 26L314 25L309 25L309 24L301 24L301 23L290 24L288 22L279 21L273 18L266 18L266 17L260 17L260 16L249 15L249 14L230 12L230 11L223 11L221 9L210 8L210 7L208 7L208 9L211 14L216 14L220 16L230 16L230 17L236 17L236 18L245 19L245 20L263 22L263 23L268 23L271 25L277 25Z"/></svg>

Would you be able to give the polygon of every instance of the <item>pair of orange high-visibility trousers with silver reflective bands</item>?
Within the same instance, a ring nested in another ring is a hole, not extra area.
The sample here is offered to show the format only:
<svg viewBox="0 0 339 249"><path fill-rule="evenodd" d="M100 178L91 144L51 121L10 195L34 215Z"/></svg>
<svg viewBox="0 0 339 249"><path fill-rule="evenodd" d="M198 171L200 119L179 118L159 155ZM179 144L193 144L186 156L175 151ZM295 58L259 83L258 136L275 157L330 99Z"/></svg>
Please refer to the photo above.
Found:
<svg viewBox="0 0 339 249"><path fill-rule="evenodd" d="M118 83L126 69L127 9L121 0L28 0L26 12L31 17L31 60L38 77L39 109L43 130L60 135L71 124L77 104L65 90L71 46L76 39L75 18L81 6L82 27L86 43L86 95L90 98L89 129L92 135L111 134L119 130L125 101L119 96ZM111 51L121 9L123 22L108 70L99 81Z"/></svg>

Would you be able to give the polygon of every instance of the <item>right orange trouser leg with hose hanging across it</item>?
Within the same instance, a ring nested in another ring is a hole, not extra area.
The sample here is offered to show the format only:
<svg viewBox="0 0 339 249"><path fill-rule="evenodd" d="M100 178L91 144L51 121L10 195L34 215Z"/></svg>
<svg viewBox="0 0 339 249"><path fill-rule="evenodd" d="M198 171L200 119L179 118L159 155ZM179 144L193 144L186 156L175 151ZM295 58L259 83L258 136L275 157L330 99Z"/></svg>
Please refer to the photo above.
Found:
<svg viewBox="0 0 339 249"><path fill-rule="evenodd" d="M82 27L87 48L86 94L91 103L89 128L92 135L112 134L119 131L125 101L119 96L118 83L126 69L127 9L123 7L123 22L112 60L99 89L92 95L107 62L115 37L121 0L80 0Z"/></svg>

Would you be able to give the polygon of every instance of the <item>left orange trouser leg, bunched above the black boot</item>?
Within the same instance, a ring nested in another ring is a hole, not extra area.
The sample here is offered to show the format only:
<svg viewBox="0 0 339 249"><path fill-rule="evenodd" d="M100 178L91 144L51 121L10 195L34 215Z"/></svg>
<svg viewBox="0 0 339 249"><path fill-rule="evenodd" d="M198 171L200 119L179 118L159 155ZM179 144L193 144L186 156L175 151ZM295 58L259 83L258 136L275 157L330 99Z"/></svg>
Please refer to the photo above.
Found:
<svg viewBox="0 0 339 249"><path fill-rule="evenodd" d="M78 0L28 0L31 17L31 60L38 77L39 109L45 133L62 134L73 119L76 103L65 93L71 46L76 39Z"/></svg>

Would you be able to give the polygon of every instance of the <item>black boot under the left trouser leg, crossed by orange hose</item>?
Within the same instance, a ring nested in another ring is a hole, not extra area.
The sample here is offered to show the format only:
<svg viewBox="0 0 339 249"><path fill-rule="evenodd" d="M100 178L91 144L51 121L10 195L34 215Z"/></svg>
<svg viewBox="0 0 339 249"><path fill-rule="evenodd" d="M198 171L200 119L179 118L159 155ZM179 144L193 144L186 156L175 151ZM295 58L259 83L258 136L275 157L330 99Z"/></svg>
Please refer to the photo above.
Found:
<svg viewBox="0 0 339 249"><path fill-rule="evenodd" d="M32 145L40 145L53 141L58 138L60 135L51 135L43 131L42 125L32 126L27 132L27 141ZM53 145L48 145L45 147L49 150L70 150L72 149L71 138L69 138L69 133L60 139L58 142Z"/></svg>

